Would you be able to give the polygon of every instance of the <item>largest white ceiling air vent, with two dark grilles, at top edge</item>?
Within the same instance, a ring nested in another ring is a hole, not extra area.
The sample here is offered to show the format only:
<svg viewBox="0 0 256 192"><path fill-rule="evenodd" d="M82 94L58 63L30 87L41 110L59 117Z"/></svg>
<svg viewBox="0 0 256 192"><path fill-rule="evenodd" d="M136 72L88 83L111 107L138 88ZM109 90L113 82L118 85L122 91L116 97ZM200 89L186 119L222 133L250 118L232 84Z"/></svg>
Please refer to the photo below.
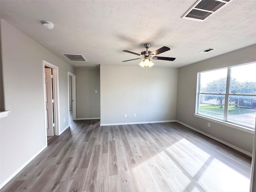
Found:
<svg viewBox="0 0 256 192"><path fill-rule="evenodd" d="M181 18L204 21L232 0L199 0Z"/></svg>

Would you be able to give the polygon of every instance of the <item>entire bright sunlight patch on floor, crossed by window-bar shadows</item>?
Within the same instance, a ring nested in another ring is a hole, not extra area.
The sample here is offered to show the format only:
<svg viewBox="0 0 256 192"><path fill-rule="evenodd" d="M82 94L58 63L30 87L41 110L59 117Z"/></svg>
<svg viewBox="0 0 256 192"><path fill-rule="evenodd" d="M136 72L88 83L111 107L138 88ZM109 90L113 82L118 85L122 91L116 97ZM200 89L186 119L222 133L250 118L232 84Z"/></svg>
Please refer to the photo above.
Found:
<svg viewBox="0 0 256 192"><path fill-rule="evenodd" d="M187 139L132 169L139 191L242 192L250 180Z"/></svg>

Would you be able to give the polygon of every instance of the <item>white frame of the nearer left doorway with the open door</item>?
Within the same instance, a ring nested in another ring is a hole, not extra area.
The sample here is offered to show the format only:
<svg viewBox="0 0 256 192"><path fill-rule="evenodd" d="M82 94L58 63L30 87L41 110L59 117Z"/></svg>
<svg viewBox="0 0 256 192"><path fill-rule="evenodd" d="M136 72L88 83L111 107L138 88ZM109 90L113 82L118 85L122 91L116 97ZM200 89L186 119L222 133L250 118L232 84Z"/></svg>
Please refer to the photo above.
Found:
<svg viewBox="0 0 256 192"><path fill-rule="evenodd" d="M52 68L52 89L54 99L54 135L60 135L60 104L59 104L59 68L45 60L43 60L43 86L44 86L44 129L45 129L45 143L47 146L47 130L46 130L46 98L45 98L45 66Z"/></svg>

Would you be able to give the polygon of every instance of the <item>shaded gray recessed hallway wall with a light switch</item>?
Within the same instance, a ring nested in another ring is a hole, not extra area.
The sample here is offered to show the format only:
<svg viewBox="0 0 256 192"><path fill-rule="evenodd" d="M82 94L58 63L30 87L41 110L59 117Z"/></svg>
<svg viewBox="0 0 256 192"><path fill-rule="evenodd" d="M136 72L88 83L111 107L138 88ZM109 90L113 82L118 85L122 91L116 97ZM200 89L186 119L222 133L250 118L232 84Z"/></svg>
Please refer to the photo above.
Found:
<svg viewBox="0 0 256 192"><path fill-rule="evenodd" d="M76 69L76 117L100 118L100 70Z"/></svg>

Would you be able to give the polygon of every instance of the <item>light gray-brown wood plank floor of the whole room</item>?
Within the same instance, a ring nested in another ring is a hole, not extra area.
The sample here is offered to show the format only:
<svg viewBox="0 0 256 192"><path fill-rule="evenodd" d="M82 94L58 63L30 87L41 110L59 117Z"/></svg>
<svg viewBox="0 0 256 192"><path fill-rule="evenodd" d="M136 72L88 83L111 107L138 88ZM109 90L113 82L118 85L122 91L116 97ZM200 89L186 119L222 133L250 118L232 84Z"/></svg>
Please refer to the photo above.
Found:
<svg viewBox="0 0 256 192"><path fill-rule="evenodd" d="M1 192L249 191L250 157L176 122L99 123L71 122Z"/></svg>

